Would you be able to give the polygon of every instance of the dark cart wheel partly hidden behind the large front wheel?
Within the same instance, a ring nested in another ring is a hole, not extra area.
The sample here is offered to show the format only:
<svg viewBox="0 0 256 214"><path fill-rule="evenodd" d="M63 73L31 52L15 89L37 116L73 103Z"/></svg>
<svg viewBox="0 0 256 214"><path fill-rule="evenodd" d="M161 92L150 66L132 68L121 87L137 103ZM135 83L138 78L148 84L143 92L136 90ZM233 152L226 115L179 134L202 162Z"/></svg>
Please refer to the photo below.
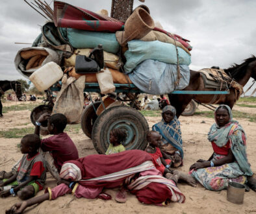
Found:
<svg viewBox="0 0 256 214"><path fill-rule="evenodd" d="M94 126L94 122L97 119L97 115L94 110L94 107L97 110L100 104L101 104L101 101L94 102L94 106L91 103L88 106L86 106L86 108L84 108L84 111L82 113L81 128L87 137L92 138L92 126Z"/></svg>

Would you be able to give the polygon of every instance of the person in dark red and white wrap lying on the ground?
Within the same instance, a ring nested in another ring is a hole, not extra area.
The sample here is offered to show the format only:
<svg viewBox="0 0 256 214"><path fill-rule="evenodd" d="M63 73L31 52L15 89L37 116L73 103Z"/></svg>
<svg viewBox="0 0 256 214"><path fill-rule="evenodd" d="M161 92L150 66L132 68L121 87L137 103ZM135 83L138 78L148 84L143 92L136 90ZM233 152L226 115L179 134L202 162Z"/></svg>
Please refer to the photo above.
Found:
<svg viewBox="0 0 256 214"><path fill-rule="evenodd" d="M104 188L120 185L145 204L164 206L169 202L185 202L185 196L176 186L179 172L172 175L171 180L164 178L153 165L151 156L142 150L92 154L67 161L62 165L60 178L63 184L47 188L44 195L14 204L6 213L21 213L33 204L54 200L67 193L73 193L77 198L97 198Z"/></svg>

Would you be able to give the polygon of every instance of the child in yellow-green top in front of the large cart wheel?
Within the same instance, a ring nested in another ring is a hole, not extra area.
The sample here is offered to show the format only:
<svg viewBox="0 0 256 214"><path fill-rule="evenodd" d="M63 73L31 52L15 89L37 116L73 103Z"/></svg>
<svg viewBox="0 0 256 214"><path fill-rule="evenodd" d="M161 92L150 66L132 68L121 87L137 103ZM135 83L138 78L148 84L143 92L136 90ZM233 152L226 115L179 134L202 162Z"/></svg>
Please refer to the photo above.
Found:
<svg viewBox="0 0 256 214"><path fill-rule="evenodd" d="M124 143L126 136L125 131L121 128L112 129L109 134L110 144L106 154L116 154L125 151L125 147L123 147L122 143Z"/></svg>

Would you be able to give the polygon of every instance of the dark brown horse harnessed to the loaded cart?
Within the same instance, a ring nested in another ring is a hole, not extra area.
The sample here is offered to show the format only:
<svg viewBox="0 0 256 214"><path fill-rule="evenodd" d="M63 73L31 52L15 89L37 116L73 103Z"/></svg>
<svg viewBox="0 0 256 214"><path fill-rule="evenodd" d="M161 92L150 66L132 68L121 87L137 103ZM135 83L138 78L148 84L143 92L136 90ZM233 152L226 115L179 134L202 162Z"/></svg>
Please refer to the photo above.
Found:
<svg viewBox="0 0 256 214"><path fill-rule="evenodd" d="M231 67L224 69L224 71L229 77L238 82L238 84L245 86L250 77L256 80L256 57L252 55L250 58L244 60L242 64L233 64ZM198 71L190 70L190 82L183 91L214 91L214 89L205 88L201 74ZM210 104L214 95L168 94L168 97L172 106L176 108L177 117L179 117L192 99L199 103ZM213 104L227 104L232 109L236 101L237 93L235 89L229 88L229 94L217 95Z"/></svg>

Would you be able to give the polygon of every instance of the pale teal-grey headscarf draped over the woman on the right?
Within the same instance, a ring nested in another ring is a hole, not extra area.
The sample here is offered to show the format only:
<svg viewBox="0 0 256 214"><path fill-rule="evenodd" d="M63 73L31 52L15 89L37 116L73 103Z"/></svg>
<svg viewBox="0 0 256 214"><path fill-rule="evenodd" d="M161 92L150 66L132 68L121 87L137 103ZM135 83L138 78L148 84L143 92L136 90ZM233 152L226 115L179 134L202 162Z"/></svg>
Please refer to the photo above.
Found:
<svg viewBox="0 0 256 214"><path fill-rule="evenodd" d="M251 176L253 172L251 171L250 163L247 160L246 134L242 126L238 124L238 121L233 120L231 108L224 104L218 106L214 112L214 119L216 121L216 112L223 106L227 108L227 112L229 113L229 123L222 127L219 127L214 123L208 133L208 139L211 142L213 141L218 147L224 147L230 140L231 151L235 156L235 160L237 161L240 169L244 172L244 175Z"/></svg>

